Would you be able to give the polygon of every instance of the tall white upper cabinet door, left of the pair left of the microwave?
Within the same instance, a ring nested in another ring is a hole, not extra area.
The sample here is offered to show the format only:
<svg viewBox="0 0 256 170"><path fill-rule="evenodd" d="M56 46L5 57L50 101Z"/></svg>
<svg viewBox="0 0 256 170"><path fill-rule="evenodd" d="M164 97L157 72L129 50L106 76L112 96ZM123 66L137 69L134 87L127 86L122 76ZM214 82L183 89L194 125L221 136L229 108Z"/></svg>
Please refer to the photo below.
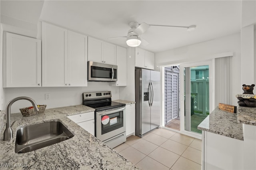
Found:
<svg viewBox="0 0 256 170"><path fill-rule="evenodd" d="M42 86L65 86L67 68L68 30L42 22Z"/></svg>

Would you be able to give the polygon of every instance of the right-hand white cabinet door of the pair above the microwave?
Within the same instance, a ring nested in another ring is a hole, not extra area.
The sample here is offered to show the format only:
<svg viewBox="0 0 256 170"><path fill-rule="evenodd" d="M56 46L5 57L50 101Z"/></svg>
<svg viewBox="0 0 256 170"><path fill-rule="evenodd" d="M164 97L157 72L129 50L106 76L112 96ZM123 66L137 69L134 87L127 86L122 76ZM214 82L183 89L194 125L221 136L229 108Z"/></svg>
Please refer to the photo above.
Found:
<svg viewBox="0 0 256 170"><path fill-rule="evenodd" d="M116 45L104 42L102 55L104 63L116 65Z"/></svg>

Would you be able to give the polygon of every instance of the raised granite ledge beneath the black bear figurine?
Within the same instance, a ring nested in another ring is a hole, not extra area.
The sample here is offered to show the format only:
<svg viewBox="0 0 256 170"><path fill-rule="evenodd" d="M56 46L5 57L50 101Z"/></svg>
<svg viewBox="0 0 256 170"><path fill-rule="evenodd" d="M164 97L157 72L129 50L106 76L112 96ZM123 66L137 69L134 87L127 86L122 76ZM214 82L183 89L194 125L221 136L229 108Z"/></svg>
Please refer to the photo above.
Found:
<svg viewBox="0 0 256 170"><path fill-rule="evenodd" d="M256 126L256 107L238 106L237 114L239 123Z"/></svg>

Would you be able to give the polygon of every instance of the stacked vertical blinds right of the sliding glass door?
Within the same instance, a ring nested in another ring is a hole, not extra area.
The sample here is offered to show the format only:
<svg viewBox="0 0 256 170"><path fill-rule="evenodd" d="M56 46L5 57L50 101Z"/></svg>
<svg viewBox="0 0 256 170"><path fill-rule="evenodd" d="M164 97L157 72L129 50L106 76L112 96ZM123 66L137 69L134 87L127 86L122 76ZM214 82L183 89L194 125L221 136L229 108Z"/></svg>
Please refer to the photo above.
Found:
<svg viewBox="0 0 256 170"><path fill-rule="evenodd" d="M215 108L219 103L231 104L231 56L215 58Z"/></svg>

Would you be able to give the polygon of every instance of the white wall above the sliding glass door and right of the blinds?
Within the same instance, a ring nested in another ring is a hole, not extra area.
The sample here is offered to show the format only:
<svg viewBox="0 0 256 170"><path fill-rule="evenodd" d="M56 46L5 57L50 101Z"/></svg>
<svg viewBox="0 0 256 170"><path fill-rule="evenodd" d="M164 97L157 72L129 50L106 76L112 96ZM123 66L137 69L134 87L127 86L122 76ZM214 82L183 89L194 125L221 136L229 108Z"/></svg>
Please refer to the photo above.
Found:
<svg viewBox="0 0 256 170"><path fill-rule="evenodd" d="M240 32L214 40L196 43L155 54L155 65L171 65L213 59L222 53L233 52L231 95L232 105L237 105L236 94L241 92L241 50ZM160 67L155 67L159 69Z"/></svg>

